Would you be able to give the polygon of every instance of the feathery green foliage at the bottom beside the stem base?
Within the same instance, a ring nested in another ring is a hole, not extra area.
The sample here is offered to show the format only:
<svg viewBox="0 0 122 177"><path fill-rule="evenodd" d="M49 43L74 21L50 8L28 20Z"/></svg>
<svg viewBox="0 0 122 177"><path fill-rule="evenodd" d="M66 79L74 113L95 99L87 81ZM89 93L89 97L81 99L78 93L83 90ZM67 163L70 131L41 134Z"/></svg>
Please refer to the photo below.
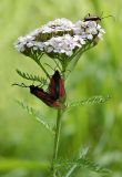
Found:
<svg viewBox="0 0 122 177"><path fill-rule="evenodd" d="M110 174L110 170L94 163L92 159L88 158L88 148L83 149L79 158L73 160L60 160L55 163L55 168L62 170L62 177L72 177L77 170L84 168L94 173L99 173L102 176ZM65 168L65 169L64 169ZM65 173L64 173L65 170Z"/></svg>

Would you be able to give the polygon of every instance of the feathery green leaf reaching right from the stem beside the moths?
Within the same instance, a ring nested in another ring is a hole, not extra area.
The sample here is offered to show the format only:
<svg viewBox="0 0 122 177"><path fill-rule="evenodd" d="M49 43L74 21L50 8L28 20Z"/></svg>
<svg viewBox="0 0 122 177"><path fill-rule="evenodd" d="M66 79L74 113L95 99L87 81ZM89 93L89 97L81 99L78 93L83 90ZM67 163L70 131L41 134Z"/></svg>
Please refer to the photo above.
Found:
<svg viewBox="0 0 122 177"><path fill-rule="evenodd" d="M67 104L67 111L71 110L72 107L83 106L83 105L94 105L94 104L102 104L110 101L111 96L108 95L103 97L101 95L92 96L85 100L79 100Z"/></svg>

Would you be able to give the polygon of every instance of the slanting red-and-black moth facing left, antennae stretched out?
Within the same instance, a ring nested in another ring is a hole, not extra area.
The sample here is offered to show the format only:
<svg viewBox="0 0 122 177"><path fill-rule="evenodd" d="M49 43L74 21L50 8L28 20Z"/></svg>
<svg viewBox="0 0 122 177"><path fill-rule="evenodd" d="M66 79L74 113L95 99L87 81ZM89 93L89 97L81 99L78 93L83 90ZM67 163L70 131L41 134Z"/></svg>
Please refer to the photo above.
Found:
<svg viewBox="0 0 122 177"><path fill-rule="evenodd" d="M43 91L43 88L34 85L27 86L23 83L22 84L12 84L18 85L21 87L29 87L30 93L40 98L44 104L47 104L50 107L61 108L62 104L51 94Z"/></svg>

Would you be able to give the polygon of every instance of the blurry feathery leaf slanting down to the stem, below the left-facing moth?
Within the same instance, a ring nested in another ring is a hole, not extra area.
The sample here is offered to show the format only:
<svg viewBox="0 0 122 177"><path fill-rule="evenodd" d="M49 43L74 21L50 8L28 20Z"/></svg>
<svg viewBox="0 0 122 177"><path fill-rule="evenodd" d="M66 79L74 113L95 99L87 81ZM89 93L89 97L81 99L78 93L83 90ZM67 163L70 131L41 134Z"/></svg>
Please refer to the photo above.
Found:
<svg viewBox="0 0 122 177"><path fill-rule="evenodd" d="M26 110L30 115L32 115L44 128L47 128L51 134L54 134L53 128L44 121L45 117L40 114L39 111L33 107L28 106L24 102L16 101L23 110Z"/></svg>

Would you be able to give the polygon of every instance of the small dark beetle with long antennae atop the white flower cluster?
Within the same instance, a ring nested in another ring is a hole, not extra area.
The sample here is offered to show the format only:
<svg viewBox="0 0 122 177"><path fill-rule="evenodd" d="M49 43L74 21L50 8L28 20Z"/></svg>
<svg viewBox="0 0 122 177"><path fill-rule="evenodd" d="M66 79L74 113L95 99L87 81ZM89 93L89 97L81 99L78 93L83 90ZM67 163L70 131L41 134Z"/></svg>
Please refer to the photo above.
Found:
<svg viewBox="0 0 122 177"><path fill-rule="evenodd" d="M93 14L88 13L84 17L83 21L101 21L102 19L109 18L109 17L114 18L113 15L106 15L106 17L102 18L102 14L101 14L101 17L98 17L98 15L93 15Z"/></svg>

